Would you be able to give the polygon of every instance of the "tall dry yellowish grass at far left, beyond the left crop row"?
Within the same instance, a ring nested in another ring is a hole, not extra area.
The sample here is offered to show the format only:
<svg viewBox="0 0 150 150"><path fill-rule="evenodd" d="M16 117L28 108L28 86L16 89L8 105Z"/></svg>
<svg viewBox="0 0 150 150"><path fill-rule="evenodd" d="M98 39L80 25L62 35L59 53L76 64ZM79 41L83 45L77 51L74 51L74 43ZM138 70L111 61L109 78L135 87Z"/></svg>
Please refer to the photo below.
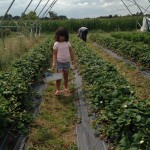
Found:
<svg viewBox="0 0 150 150"><path fill-rule="evenodd" d="M9 35L5 38L5 48L2 39L0 39L0 69L6 69L15 58L30 50L43 39L41 37L26 37L24 35Z"/></svg>

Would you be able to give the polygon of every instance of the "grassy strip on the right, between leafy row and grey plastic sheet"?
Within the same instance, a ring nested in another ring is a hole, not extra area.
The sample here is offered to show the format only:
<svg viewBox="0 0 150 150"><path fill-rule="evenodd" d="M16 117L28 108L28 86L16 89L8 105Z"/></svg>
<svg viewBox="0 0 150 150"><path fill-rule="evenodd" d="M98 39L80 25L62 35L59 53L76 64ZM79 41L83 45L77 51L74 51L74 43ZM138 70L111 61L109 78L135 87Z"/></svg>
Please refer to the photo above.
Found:
<svg viewBox="0 0 150 150"><path fill-rule="evenodd" d="M88 43L88 47L117 68L118 72L130 82L138 98L141 100L150 99L150 80L144 78L139 69L111 57L92 43Z"/></svg>

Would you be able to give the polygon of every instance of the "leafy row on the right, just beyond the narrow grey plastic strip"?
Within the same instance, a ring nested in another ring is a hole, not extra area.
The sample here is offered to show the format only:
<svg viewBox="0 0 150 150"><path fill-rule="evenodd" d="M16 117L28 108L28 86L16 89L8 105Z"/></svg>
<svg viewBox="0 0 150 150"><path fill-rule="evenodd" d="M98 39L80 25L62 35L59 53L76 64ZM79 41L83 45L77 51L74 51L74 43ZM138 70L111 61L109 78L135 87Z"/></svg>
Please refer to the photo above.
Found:
<svg viewBox="0 0 150 150"><path fill-rule="evenodd" d="M135 62L141 69L150 69L150 51L148 45L100 34L91 34L90 39Z"/></svg>

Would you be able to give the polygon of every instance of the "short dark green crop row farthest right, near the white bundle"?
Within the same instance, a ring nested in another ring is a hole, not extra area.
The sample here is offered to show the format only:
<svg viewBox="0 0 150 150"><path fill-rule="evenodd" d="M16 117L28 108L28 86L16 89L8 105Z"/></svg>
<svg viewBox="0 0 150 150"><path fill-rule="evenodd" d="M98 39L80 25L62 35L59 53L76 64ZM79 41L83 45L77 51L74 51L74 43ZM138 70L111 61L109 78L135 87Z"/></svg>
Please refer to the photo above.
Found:
<svg viewBox="0 0 150 150"><path fill-rule="evenodd" d="M149 32L147 32L147 33L142 33L142 32L113 32L113 33L111 33L111 36L113 36L117 39L124 39L127 41L150 44Z"/></svg>

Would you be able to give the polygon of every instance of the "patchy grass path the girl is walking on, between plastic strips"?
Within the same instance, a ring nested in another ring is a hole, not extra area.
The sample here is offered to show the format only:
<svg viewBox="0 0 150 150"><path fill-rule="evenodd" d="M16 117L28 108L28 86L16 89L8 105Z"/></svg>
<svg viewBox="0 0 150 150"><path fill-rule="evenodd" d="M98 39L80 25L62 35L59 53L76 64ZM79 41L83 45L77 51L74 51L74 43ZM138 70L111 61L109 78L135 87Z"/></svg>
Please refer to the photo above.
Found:
<svg viewBox="0 0 150 150"><path fill-rule="evenodd" d="M40 113L29 135L29 150L77 150L76 96L74 85L69 84L71 96L57 97L54 95L55 83L49 83Z"/></svg>

